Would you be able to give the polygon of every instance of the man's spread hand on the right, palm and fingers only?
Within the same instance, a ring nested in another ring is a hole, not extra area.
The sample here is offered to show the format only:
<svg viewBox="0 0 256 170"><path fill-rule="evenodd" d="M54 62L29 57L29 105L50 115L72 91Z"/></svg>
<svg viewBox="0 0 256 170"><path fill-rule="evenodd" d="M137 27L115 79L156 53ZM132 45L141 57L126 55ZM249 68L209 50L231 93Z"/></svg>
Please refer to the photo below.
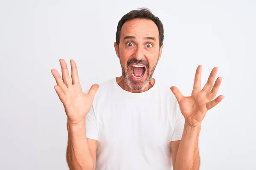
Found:
<svg viewBox="0 0 256 170"><path fill-rule="evenodd" d="M185 121L191 126L200 125L207 111L221 102L224 98L223 95L220 95L214 99L221 85L221 77L218 77L213 85L217 71L218 68L216 67L212 69L207 83L201 90L202 66L199 65L196 70L194 88L191 96L183 96L177 87L171 87L171 90L179 103L180 111L185 117Z"/></svg>

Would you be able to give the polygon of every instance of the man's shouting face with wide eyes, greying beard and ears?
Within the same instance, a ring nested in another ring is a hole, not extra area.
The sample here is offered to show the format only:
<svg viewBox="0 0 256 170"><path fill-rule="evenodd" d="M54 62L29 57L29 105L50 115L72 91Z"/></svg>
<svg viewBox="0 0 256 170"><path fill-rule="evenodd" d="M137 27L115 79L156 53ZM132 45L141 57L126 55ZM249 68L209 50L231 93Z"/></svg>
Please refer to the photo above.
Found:
<svg viewBox="0 0 256 170"><path fill-rule="evenodd" d="M133 19L124 23L119 47L115 43L115 49L129 88L141 91L148 85L162 48L157 25L152 20Z"/></svg>

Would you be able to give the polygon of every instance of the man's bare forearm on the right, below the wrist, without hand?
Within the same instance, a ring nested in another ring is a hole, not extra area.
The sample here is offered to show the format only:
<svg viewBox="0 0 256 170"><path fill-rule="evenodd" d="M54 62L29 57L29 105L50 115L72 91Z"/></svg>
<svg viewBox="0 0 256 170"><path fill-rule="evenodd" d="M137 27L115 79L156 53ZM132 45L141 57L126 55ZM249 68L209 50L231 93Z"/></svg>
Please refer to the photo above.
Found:
<svg viewBox="0 0 256 170"><path fill-rule="evenodd" d="M177 151L175 170L198 170L200 157L198 137L201 127L190 127L185 123L183 135Z"/></svg>

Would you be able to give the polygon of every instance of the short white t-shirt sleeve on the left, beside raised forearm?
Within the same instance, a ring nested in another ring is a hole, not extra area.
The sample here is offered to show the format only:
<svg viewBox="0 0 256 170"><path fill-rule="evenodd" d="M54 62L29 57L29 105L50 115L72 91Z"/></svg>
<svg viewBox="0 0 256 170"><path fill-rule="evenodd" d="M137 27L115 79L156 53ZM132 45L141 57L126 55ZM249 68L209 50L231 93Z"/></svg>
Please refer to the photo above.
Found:
<svg viewBox="0 0 256 170"><path fill-rule="evenodd" d="M90 112L85 116L85 129L88 139L99 140L99 133L93 106L91 107Z"/></svg>

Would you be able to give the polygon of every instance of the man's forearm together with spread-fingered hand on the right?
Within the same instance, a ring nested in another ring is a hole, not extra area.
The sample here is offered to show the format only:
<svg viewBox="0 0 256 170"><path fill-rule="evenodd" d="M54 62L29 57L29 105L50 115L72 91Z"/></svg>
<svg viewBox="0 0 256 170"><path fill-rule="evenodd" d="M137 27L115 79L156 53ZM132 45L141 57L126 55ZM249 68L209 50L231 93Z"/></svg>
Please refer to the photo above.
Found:
<svg viewBox="0 0 256 170"><path fill-rule="evenodd" d="M183 96L180 90L172 86L171 90L180 106L185 118L182 138L175 156L175 170L198 170L200 164L198 151L198 136L201 122L207 111L224 99L223 95L215 98L221 85L221 77L214 83L218 68L213 68L207 83L201 90L202 66L199 65L195 73L194 87L191 96ZM215 98L215 99L214 99Z"/></svg>

